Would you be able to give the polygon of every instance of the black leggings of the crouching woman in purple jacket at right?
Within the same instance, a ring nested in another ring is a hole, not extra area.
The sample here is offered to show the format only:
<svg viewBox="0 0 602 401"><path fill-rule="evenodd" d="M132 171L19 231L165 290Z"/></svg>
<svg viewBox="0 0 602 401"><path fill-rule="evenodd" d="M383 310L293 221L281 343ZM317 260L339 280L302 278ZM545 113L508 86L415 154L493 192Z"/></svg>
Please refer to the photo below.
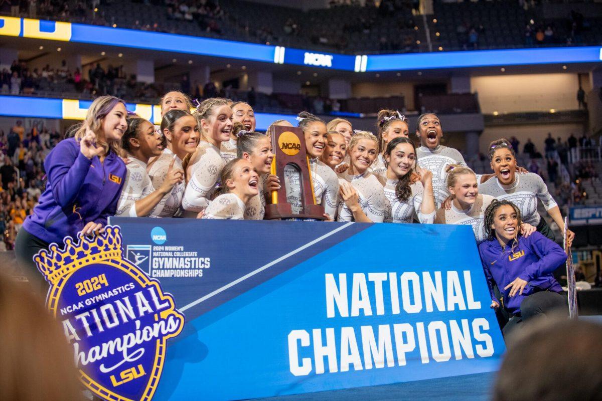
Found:
<svg viewBox="0 0 602 401"><path fill-rule="evenodd" d="M523 327L523 322L534 317L545 316L548 313L566 314L568 316L566 295L551 291L540 291L525 297L521 301L520 316L513 316L502 329L504 337L510 331Z"/></svg>

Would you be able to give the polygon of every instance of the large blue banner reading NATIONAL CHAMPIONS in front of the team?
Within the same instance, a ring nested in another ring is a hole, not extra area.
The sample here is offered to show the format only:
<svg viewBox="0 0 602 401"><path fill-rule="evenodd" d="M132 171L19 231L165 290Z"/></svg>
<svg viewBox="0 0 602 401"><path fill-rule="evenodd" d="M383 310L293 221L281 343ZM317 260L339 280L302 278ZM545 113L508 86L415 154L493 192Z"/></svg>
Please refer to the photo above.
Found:
<svg viewBox="0 0 602 401"><path fill-rule="evenodd" d="M492 372L504 342L468 226L111 218L186 316L155 400Z"/></svg>

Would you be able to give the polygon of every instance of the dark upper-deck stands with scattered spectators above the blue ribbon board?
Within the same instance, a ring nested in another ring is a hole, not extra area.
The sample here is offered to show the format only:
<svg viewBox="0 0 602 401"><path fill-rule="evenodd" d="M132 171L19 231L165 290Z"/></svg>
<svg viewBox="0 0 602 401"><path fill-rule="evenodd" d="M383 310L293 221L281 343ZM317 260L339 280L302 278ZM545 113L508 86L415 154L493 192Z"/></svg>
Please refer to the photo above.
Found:
<svg viewBox="0 0 602 401"><path fill-rule="evenodd" d="M594 44L602 35L595 16L585 18L574 10L565 18L548 20L539 14L534 2L468 3L470 13L464 3L435 2L433 20L437 23L430 26L433 50L439 44L445 50ZM264 16L262 19L253 19L253 13L249 14L255 8ZM377 5L374 1L360 4L333 0L330 8L307 11L284 4L234 0L4 0L0 14L208 35L317 51L428 51L424 23L414 17L418 8L415 0L382 0ZM333 18L341 23L331 23ZM504 19L510 19L509 25L491 25Z"/></svg>

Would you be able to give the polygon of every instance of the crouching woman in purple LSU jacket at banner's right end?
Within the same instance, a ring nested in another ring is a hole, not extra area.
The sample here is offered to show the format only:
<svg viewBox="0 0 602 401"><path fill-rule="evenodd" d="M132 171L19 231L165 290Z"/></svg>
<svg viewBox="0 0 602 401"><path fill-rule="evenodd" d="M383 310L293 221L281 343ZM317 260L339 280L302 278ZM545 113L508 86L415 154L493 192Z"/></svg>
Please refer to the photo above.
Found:
<svg viewBox="0 0 602 401"><path fill-rule="evenodd" d="M552 275L566 261L565 252L537 231L521 236L520 224L521 213L514 203L494 200L485 210L488 240L479 244L491 307L500 307L493 291L497 284L501 305L512 314L504 335L532 317L568 308L562 287Z"/></svg>

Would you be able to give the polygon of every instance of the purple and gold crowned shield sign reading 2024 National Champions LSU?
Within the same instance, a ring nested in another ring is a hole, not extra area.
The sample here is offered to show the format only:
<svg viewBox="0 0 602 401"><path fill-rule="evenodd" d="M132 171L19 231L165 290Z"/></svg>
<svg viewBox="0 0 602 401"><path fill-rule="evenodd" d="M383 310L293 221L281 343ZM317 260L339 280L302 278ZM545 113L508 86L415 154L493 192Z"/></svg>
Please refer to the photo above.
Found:
<svg viewBox="0 0 602 401"><path fill-rule="evenodd" d="M34 260L51 285L46 304L73 346L80 380L107 400L151 400L167 339L182 331L184 315L157 280L122 257L119 227L64 242Z"/></svg>

